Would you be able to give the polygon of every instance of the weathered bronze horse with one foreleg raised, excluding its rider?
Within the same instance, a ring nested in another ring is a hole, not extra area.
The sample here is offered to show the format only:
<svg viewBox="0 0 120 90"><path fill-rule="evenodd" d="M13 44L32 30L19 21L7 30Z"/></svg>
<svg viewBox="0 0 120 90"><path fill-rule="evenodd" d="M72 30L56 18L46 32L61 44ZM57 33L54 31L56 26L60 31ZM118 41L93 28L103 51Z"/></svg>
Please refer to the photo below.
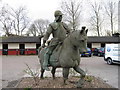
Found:
<svg viewBox="0 0 120 90"><path fill-rule="evenodd" d="M76 72L81 74L81 77L77 83L77 87L81 88L84 83L86 73L79 67L80 65L80 53L87 51L87 31L77 30L71 32L64 40L62 45L56 47L49 59L49 66L52 67L52 76L55 79L56 68L63 68L63 83L66 84L68 79L69 69L73 68ZM41 78L43 78L43 61L44 53L47 48L39 50L38 58L41 64Z"/></svg>

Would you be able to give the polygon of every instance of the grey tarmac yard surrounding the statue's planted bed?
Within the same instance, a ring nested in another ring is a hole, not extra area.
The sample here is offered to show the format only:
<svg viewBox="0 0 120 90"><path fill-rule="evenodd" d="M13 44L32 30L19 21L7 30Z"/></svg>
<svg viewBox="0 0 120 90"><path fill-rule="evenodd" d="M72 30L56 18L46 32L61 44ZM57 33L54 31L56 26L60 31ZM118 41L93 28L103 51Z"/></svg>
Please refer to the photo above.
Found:
<svg viewBox="0 0 120 90"><path fill-rule="evenodd" d="M2 88L6 87L9 82L18 80L27 76L24 70L29 67L32 70L40 69L38 56L0 56L2 57L1 82ZM27 64L27 65L26 65ZM89 75L100 77L108 84L118 88L118 64L108 65L103 57L82 57L80 67ZM51 77L51 72L46 71L45 76ZM56 76L62 77L62 69L57 69Z"/></svg>

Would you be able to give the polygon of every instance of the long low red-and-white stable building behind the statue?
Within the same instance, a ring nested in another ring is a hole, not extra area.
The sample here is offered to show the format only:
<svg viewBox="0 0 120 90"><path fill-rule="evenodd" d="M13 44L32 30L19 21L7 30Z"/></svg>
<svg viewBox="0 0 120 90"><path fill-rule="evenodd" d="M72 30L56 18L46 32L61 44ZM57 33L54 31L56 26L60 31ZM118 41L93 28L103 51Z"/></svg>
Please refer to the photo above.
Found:
<svg viewBox="0 0 120 90"><path fill-rule="evenodd" d="M105 47L107 43L120 43L120 37L88 37L88 47L91 49ZM3 37L0 43L0 55L33 55L41 46L41 37L10 36Z"/></svg>

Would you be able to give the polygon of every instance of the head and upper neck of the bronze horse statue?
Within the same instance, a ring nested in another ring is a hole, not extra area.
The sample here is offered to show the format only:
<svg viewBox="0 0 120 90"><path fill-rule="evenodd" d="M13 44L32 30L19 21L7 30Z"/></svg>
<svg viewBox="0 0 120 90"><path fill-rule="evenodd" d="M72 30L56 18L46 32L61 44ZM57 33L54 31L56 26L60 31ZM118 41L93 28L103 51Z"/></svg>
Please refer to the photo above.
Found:
<svg viewBox="0 0 120 90"><path fill-rule="evenodd" d="M87 32L88 29L74 31L71 35L71 43L79 48L80 53L87 52Z"/></svg>

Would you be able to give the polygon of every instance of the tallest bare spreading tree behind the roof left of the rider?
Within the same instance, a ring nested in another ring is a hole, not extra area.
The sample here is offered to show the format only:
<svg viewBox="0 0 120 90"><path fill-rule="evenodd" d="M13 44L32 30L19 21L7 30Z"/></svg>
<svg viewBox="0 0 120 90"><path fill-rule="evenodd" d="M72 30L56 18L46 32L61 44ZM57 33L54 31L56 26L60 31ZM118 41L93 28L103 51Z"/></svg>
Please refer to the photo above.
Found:
<svg viewBox="0 0 120 90"><path fill-rule="evenodd" d="M27 28L29 24L26 9L24 7L19 7L18 9L13 9L8 11L13 20L13 28L16 35L22 35L23 31Z"/></svg>

